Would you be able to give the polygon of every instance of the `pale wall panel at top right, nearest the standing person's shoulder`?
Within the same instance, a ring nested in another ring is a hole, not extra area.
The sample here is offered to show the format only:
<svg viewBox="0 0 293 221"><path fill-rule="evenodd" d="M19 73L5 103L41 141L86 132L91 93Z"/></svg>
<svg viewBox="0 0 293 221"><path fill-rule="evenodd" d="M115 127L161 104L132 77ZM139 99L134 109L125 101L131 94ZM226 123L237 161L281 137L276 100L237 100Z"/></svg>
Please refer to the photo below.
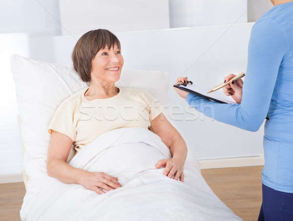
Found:
<svg viewBox="0 0 293 221"><path fill-rule="evenodd" d="M169 0L170 27L247 22L247 0Z"/></svg>

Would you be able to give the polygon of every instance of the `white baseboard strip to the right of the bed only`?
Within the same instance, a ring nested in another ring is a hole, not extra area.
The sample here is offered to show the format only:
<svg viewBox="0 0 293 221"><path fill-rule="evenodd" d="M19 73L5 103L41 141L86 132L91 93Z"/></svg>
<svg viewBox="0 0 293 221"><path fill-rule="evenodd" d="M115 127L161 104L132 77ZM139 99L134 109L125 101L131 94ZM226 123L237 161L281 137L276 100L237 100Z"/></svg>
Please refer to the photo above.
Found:
<svg viewBox="0 0 293 221"><path fill-rule="evenodd" d="M198 160L201 169L228 168L241 166L263 166L263 156L234 157L222 159Z"/></svg>

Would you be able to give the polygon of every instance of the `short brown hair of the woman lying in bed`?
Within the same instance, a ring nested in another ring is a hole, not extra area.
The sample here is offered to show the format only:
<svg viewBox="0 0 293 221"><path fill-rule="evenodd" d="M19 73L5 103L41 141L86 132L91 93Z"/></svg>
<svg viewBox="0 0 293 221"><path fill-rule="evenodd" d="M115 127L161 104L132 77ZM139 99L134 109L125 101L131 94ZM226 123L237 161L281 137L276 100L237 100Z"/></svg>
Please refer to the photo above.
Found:
<svg viewBox="0 0 293 221"><path fill-rule="evenodd" d="M71 58L74 70L79 74L84 82L91 80L90 73L92 70L91 60L98 51L105 46L111 48L117 45L121 50L118 38L106 29L97 29L86 32L75 44Z"/></svg>

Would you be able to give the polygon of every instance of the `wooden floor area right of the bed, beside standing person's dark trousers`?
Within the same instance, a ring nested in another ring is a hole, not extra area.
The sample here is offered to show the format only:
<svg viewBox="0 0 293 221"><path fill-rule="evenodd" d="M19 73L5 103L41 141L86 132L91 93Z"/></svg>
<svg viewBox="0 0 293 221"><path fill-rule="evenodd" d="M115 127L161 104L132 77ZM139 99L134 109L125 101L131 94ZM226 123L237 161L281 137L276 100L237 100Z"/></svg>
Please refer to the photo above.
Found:
<svg viewBox="0 0 293 221"><path fill-rule="evenodd" d="M257 221L263 166L201 170L212 191L244 221Z"/></svg>

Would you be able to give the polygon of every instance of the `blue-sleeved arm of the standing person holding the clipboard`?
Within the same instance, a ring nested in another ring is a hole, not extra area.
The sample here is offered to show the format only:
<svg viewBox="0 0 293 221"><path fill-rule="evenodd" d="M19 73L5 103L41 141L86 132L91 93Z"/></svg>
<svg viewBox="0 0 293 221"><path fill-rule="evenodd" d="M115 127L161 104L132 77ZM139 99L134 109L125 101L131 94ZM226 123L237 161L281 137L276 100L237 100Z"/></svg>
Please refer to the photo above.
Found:
<svg viewBox="0 0 293 221"><path fill-rule="evenodd" d="M241 103L222 104L189 93L188 104L217 121L257 131L267 116L279 66L288 49L281 24L272 19L256 22L251 31Z"/></svg>

